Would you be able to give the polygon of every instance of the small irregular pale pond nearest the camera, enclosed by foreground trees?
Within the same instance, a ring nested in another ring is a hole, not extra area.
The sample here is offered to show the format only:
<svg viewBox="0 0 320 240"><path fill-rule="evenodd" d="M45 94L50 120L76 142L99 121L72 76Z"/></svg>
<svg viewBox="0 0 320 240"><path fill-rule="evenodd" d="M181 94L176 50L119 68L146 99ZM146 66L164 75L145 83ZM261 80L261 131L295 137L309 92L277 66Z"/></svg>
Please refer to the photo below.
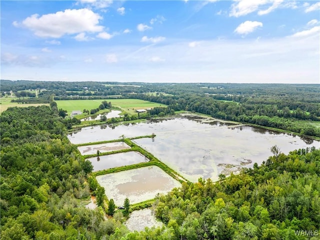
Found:
<svg viewBox="0 0 320 240"><path fill-rule="evenodd" d="M155 218L151 208L144 208L132 211L124 225L126 225L130 231L143 231L144 227L158 227L162 226L163 223Z"/></svg>

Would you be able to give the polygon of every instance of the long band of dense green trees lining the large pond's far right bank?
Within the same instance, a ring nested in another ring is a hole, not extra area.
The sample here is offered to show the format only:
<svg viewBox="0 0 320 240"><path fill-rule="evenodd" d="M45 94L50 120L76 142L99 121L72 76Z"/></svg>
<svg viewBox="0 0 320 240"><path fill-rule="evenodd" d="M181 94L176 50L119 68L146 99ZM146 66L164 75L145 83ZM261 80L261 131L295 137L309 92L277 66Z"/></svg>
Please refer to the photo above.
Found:
<svg viewBox="0 0 320 240"><path fill-rule="evenodd" d="M319 121L320 105L315 103L310 103L308 109L310 112L307 114L299 107L291 113L288 107L278 109L277 104L219 101L209 95L199 94L185 93L176 96L130 94L127 97L167 104L175 111L194 111L221 119L248 122L320 137L320 128L297 121L305 119Z"/></svg>

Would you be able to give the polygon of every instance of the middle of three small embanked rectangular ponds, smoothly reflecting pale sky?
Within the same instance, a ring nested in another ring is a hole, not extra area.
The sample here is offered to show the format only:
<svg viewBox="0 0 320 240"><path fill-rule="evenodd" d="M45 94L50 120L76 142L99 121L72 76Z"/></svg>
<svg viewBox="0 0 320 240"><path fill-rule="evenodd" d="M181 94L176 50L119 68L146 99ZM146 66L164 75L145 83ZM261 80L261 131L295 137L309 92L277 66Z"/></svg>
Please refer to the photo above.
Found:
<svg viewBox="0 0 320 240"><path fill-rule="evenodd" d="M149 161L144 155L137 151L120 152L99 157L87 158L93 165L93 171L99 171L116 166L127 166L140 162Z"/></svg>

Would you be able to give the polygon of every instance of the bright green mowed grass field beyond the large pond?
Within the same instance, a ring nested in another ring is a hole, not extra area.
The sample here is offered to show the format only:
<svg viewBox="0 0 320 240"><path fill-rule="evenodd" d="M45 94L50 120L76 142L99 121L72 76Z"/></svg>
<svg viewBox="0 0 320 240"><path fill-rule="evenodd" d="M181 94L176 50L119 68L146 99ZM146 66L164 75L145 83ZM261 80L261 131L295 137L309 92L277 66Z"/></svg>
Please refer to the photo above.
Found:
<svg viewBox="0 0 320 240"><path fill-rule="evenodd" d="M120 108L128 113L134 112L136 109L153 108L155 106L166 106L164 104L144 101L140 99L94 99L94 100L56 100L58 109L62 108L71 113L74 110L93 109L99 107L102 101L111 102L112 106Z"/></svg>

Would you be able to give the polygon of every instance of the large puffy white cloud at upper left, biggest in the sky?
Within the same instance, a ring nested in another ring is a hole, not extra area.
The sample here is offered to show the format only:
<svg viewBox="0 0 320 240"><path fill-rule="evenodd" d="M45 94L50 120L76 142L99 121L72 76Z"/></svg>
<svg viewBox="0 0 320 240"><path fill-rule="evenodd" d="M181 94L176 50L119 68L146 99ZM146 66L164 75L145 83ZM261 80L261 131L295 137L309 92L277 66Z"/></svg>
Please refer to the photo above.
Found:
<svg viewBox="0 0 320 240"><path fill-rule="evenodd" d="M33 14L25 18L22 25L37 36L58 38L64 34L102 31L103 26L98 25L100 19L99 14L87 8L65 9L42 16Z"/></svg>

